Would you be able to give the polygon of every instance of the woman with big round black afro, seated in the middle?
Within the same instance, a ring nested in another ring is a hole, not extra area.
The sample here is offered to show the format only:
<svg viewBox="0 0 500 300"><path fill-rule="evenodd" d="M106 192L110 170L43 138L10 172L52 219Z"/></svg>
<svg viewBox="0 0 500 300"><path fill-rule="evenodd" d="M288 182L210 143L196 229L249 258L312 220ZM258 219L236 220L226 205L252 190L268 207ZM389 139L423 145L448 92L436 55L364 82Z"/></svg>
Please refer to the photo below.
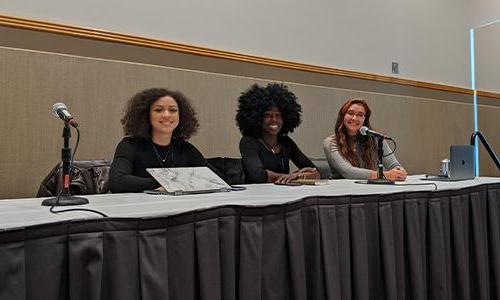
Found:
<svg viewBox="0 0 500 300"><path fill-rule="evenodd" d="M236 123L243 134L240 153L249 183L317 179L319 172L287 136L301 122L297 97L282 84L254 84L238 98ZM299 168L290 173L289 160Z"/></svg>

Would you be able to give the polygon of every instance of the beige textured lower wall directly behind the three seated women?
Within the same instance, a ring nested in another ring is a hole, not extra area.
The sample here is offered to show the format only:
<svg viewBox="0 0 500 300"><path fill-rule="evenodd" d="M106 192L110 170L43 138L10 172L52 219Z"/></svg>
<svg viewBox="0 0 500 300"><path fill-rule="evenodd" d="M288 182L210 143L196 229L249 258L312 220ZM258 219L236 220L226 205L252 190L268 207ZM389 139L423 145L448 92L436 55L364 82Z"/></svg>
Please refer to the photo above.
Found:
<svg viewBox="0 0 500 300"><path fill-rule="evenodd" d="M450 93L444 100L432 91L429 97L411 96L408 87L372 88L357 79L349 88L339 88L334 78L301 77L291 70L268 69L267 76L251 77L7 47L0 48L0 67L0 198L34 196L60 160L62 122L51 114L53 103L67 104L81 124L76 159L112 158L122 137L125 101L154 86L178 89L192 99L201 128L191 142L206 157L239 156L236 98L255 82L279 78L287 79L281 81L300 99L304 120L292 136L311 157L324 157L321 141L331 133L340 105L352 96L368 99L373 125L396 139L396 154L413 174L436 172L448 146L467 143L473 128L472 105L463 95L456 95L456 101ZM400 93L383 92L398 89ZM481 114L488 116L481 126L491 133L500 117L496 102L481 106ZM482 174L492 175L492 170L485 167Z"/></svg>

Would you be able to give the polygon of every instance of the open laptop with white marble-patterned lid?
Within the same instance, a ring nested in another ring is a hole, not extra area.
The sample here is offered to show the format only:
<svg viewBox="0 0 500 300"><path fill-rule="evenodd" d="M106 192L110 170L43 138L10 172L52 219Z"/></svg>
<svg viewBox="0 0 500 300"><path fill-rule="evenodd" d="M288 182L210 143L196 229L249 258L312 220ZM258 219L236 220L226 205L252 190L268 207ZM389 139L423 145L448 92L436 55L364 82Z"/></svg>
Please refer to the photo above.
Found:
<svg viewBox="0 0 500 300"><path fill-rule="evenodd" d="M186 195L228 192L231 186L208 167L146 169L165 191L145 191L148 194Z"/></svg>

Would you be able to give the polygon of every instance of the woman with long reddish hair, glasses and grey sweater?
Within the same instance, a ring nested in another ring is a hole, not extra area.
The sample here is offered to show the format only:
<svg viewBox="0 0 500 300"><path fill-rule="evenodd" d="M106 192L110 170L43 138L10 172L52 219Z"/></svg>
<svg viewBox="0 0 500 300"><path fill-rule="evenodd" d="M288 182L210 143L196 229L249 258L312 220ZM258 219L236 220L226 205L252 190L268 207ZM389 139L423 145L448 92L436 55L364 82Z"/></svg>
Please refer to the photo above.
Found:
<svg viewBox="0 0 500 300"><path fill-rule="evenodd" d="M325 138L323 149L336 178L377 178L377 143L374 137L359 133L362 126L371 128L371 110L362 99L349 99L339 110L335 133ZM405 180L406 171L401 167L389 145L384 141L384 177L388 180Z"/></svg>

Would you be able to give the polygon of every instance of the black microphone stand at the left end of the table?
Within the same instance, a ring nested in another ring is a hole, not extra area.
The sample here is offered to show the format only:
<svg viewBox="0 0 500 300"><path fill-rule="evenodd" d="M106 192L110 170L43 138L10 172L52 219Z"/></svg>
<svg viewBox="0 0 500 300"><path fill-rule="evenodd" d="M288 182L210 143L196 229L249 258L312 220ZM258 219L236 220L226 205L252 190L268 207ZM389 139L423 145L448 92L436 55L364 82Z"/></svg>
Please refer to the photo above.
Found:
<svg viewBox="0 0 500 300"><path fill-rule="evenodd" d="M63 188L58 196L48 198L42 201L43 206L66 206L66 205L81 205L88 204L89 200L83 197L75 197L71 195L69 190L71 184L71 148L69 147L69 139L71 138L71 130L69 122L64 122L62 137L64 138L64 147L61 150L62 170L63 170Z"/></svg>

